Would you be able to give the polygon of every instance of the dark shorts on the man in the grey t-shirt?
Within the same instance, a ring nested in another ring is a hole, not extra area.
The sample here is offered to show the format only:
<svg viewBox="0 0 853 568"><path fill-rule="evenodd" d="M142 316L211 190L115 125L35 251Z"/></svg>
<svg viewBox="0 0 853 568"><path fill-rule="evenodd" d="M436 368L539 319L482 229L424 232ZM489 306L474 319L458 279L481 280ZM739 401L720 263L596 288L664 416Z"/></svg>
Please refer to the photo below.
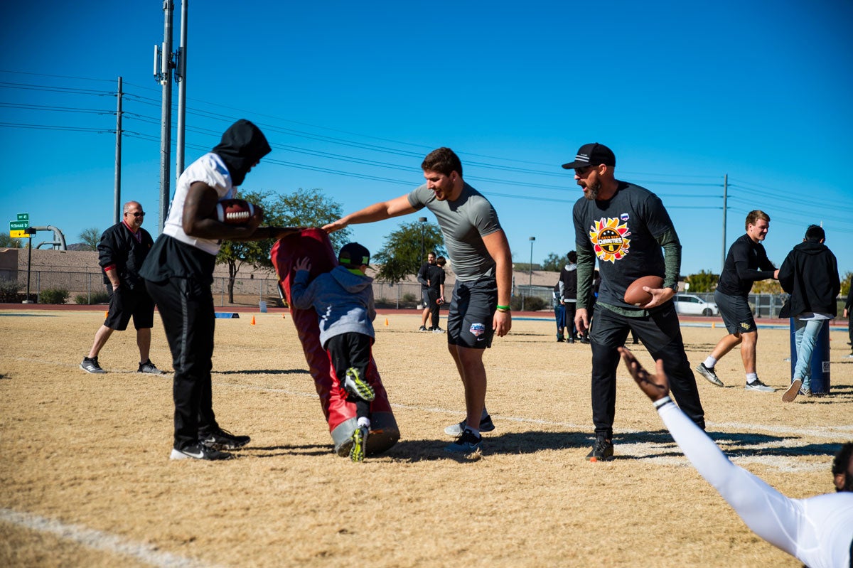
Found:
<svg viewBox="0 0 853 568"><path fill-rule="evenodd" d="M491 324L496 310L495 278L473 282L456 281L447 316L447 342L472 349L491 347L491 339L495 336Z"/></svg>

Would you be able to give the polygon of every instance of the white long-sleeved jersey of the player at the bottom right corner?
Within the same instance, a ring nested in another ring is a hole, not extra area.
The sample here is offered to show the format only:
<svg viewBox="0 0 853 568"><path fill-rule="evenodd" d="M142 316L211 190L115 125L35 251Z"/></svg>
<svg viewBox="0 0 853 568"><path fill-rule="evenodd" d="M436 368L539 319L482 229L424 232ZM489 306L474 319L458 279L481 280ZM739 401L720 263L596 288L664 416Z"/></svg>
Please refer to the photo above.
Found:
<svg viewBox="0 0 853 568"><path fill-rule="evenodd" d="M717 444L674 403L664 404L659 414L693 467L755 534L809 568L851 565L853 493L786 497L728 461Z"/></svg>

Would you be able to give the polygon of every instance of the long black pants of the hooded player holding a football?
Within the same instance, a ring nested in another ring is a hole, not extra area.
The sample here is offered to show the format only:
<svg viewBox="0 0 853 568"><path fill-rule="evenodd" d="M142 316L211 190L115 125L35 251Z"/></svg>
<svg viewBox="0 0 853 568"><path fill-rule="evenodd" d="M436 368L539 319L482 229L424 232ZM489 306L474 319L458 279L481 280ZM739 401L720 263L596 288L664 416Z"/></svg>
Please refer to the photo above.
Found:
<svg viewBox="0 0 853 568"><path fill-rule="evenodd" d="M210 285L187 278L146 281L154 298L171 349L175 376L175 448L199 441L200 432L218 429L213 414L211 368L213 356L213 296Z"/></svg>

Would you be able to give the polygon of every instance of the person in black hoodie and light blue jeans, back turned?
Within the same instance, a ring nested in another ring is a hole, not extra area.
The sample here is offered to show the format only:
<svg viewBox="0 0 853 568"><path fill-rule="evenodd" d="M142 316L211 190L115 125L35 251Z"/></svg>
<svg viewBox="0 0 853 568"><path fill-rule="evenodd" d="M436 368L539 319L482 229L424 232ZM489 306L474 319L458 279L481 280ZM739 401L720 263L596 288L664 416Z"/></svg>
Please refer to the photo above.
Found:
<svg viewBox="0 0 853 568"><path fill-rule="evenodd" d="M779 283L791 298L782 306L780 317L794 318L797 365L791 386L782 400L791 403L798 394L811 395L809 384L811 353L821 327L838 315L835 298L841 292L838 261L823 244L827 234L822 227L809 225L803 242L794 246L779 269Z"/></svg>

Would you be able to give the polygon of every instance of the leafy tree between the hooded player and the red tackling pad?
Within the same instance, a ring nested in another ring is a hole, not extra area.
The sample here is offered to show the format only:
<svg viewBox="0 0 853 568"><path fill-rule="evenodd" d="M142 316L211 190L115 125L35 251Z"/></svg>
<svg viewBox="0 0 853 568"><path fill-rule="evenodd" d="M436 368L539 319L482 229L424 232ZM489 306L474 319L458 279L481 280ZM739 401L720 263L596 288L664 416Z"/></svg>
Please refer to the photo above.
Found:
<svg viewBox="0 0 853 568"><path fill-rule="evenodd" d="M328 199L319 189L299 189L293 194L273 197L268 191L241 191L241 200L264 208L263 225L278 227L322 227L341 217L339 203ZM332 244L339 241L339 247L345 244L349 229L329 235ZM237 273L243 264L255 269L272 270L270 251L276 243L273 239L265 241L223 241L217 255L217 264L228 266L228 301L234 304L234 284Z"/></svg>

